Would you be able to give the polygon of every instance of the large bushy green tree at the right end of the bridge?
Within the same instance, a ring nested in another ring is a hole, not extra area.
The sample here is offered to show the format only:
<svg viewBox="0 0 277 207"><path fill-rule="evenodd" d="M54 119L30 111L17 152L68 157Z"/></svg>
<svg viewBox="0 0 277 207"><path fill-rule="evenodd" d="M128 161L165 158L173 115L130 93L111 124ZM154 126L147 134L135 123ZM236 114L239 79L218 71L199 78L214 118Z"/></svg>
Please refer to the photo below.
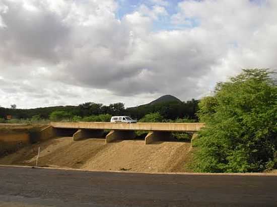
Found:
<svg viewBox="0 0 277 207"><path fill-rule="evenodd" d="M199 103L205 128L194 142L200 172L277 167L277 85L267 69L244 69Z"/></svg>

